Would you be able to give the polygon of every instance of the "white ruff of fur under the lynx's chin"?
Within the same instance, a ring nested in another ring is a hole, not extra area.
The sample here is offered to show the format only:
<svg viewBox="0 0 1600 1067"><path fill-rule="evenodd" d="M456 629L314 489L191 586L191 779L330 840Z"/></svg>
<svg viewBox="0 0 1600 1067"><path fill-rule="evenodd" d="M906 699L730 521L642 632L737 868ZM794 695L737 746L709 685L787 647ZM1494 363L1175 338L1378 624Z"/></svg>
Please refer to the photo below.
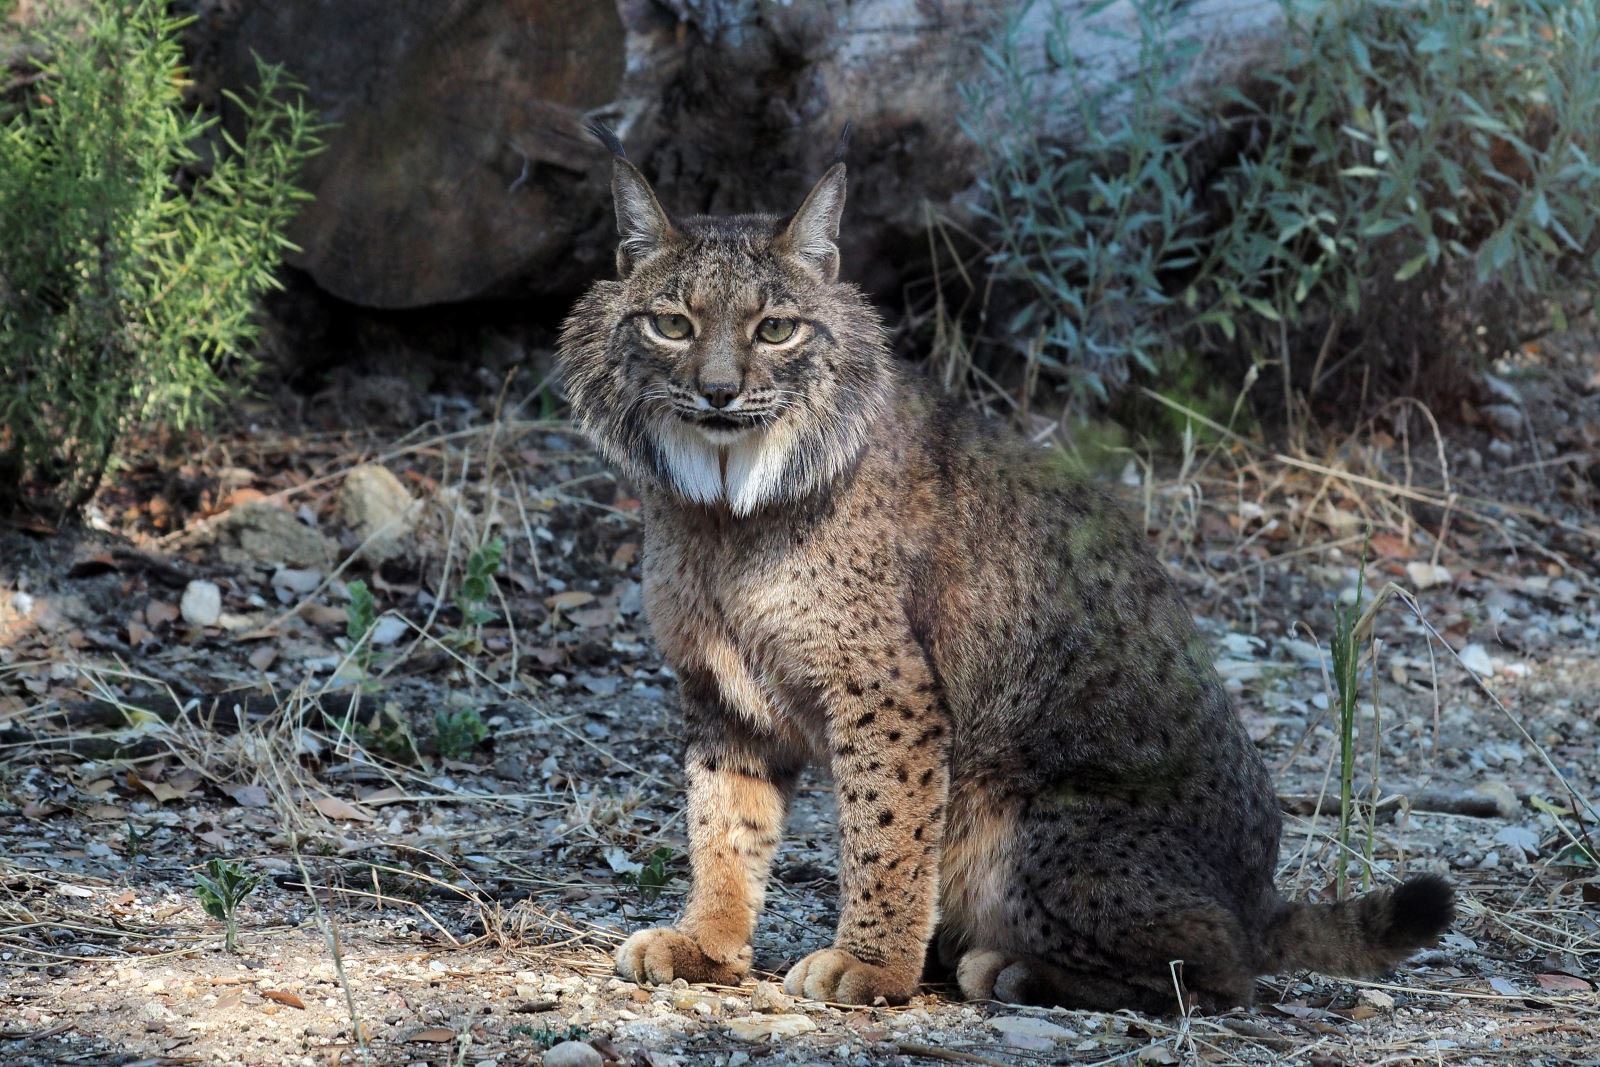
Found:
<svg viewBox="0 0 1600 1067"><path fill-rule="evenodd" d="M726 504L742 517L813 488L792 483L794 435L778 424L718 443L694 427L669 424L656 445L674 490L696 504Z"/></svg>

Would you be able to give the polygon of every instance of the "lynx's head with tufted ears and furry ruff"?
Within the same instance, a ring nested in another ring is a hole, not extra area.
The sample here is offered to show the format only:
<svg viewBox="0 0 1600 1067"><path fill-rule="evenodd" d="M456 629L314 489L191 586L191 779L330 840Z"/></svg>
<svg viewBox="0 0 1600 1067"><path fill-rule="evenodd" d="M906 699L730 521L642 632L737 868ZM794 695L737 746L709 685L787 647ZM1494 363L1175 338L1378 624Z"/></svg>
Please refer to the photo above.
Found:
<svg viewBox="0 0 1600 1067"><path fill-rule="evenodd" d="M669 219L616 160L621 280L562 333L568 395L638 482L749 515L850 469L888 387L878 318L837 280L845 168L790 219Z"/></svg>

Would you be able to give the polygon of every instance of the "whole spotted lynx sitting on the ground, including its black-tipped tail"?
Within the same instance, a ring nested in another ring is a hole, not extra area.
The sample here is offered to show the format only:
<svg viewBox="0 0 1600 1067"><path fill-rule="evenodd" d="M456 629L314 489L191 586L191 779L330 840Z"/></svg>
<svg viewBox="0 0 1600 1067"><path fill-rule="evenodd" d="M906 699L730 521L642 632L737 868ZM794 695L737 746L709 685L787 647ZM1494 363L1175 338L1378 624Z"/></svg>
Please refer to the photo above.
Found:
<svg viewBox="0 0 1600 1067"><path fill-rule="evenodd" d="M832 771L834 947L789 992L1178 1008L1432 944L1450 888L1278 896L1280 814L1192 619L1096 486L896 366L838 280L845 166L789 218L672 218L621 146L619 278L562 333L566 390L645 504L680 680L693 888L618 971L736 982L800 769ZM930 955L933 960L930 960Z"/></svg>

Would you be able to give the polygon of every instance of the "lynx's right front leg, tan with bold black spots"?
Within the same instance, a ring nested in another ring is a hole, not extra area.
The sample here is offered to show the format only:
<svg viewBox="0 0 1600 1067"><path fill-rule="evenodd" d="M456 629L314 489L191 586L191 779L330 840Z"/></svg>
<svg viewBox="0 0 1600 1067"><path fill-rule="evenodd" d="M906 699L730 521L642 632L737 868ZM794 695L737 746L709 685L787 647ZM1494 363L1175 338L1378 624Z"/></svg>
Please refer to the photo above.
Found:
<svg viewBox="0 0 1600 1067"><path fill-rule="evenodd" d="M949 726L909 640L848 667L829 709L838 931L834 947L797 963L784 987L837 1003L904 1001L917 990L938 920Z"/></svg>

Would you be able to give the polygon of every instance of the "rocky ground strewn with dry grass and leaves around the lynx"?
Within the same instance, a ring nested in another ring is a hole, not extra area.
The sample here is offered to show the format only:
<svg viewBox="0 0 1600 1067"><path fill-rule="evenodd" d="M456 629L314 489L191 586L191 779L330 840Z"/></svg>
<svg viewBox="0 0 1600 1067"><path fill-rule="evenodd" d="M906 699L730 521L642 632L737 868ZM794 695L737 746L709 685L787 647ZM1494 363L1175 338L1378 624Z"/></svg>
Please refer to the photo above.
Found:
<svg viewBox="0 0 1600 1067"><path fill-rule="evenodd" d="M762 981L611 977L685 889L637 501L541 389L341 389L150 442L83 533L0 528L5 1062L1600 1062L1594 339L1502 363L1442 440L1395 406L1122 470L1278 774L1285 891L1333 891L1326 649L1360 590L1349 869L1462 896L1386 981L1277 976L1214 1017L790 1001L835 917L821 776ZM259 880L237 952L213 859Z"/></svg>

